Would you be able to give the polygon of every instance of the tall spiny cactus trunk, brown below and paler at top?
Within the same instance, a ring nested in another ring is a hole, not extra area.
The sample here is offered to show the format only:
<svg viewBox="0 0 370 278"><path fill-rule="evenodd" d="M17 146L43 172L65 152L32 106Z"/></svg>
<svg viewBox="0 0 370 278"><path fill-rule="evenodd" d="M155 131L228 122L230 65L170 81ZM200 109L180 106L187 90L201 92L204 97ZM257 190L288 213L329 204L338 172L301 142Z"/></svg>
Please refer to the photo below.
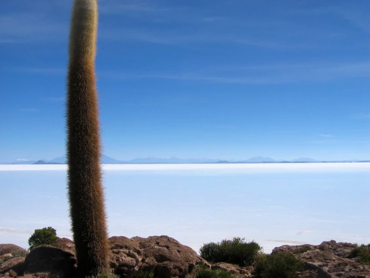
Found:
<svg viewBox="0 0 370 278"><path fill-rule="evenodd" d="M97 0L74 0L67 92L68 195L79 275L108 267L95 54Z"/></svg>

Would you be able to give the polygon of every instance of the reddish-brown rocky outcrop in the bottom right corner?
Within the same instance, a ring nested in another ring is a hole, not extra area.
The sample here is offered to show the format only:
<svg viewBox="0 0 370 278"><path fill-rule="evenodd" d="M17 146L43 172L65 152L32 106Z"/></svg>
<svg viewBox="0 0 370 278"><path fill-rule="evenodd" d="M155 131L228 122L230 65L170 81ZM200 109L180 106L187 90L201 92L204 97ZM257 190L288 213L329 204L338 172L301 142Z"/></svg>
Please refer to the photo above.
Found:
<svg viewBox="0 0 370 278"><path fill-rule="evenodd" d="M323 241L320 245L283 245L276 247L272 253L291 252L300 259L307 270L300 273L300 278L370 278L370 265L356 262L349 258L352 243ZM307 250L310 249L310 250Z"/></svg>

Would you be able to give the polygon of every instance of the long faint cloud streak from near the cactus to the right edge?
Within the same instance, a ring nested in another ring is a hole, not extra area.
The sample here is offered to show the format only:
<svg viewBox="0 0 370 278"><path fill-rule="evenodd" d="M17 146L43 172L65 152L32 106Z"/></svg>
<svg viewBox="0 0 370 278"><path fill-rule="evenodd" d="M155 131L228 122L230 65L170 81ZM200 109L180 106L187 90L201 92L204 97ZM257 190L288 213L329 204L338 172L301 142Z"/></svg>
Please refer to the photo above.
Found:
<svg viewBox="0 0 370 278"><path fill-rule="evenodd" d="M172 79L209 83L283 84L296 82L328 82L343 78L370 76L370 62L310 63L257 66L224 66L197 69L183 73L101 72L101 76L115 79Z"/></svg>

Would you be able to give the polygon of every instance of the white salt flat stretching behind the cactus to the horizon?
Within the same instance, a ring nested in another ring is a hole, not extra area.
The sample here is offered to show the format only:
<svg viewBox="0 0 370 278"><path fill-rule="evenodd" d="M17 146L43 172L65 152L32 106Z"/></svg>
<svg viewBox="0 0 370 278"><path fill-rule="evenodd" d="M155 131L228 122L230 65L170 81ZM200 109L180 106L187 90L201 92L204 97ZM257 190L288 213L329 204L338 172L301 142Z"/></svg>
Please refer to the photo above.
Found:
<svg viewBox="0 0 370 278"><path fill-rule="evenodd" d="M0 243L71 238L66 165L0 165ZM104 165L110 235L168 235L198 251L233 236L266 252L370 242L370 163Z"/></svg>

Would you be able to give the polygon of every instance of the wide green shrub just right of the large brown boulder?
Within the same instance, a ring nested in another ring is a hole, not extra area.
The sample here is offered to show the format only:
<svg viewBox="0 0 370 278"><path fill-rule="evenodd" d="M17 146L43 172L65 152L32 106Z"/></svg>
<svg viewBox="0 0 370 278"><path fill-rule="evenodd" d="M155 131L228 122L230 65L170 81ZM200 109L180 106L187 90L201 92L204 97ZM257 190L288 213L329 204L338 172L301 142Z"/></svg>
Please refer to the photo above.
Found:
<svg viewBox="0 0 370 278"><path fill-rule="evenodd" d="M234 237L221 242L210 242L199 249L200 256L210 262L229 262L239 266L248 266L262 247L254 242L245 242L244 238Z"/></svg>

